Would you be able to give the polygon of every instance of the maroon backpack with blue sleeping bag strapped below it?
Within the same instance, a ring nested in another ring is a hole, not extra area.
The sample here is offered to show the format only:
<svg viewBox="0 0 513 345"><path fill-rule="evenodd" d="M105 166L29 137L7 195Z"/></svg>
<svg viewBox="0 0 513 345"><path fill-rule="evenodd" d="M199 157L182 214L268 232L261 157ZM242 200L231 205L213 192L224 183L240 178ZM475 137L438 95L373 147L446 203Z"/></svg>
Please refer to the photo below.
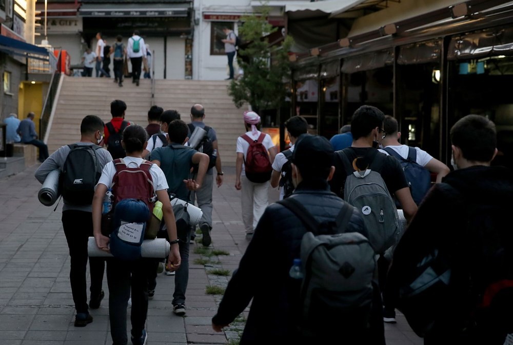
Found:
<svg viewBox="0 0 513 345"><path fill-rule="evenodd" d="M113 208L123 199L139 199L148 206L151 216L155 200L153 179L150 174L152 165L145 160L139 167L129 168L123 158L114 160L116 173L112 178Z"/></svg>

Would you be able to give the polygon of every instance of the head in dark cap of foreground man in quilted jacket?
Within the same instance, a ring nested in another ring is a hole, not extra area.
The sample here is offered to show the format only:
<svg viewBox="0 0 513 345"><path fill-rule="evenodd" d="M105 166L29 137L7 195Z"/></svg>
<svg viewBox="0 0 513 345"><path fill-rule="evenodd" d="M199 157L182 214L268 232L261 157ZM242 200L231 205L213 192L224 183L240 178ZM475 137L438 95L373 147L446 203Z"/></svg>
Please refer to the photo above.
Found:
<svg viewBox="0 0 513 345"><path fill-rule="evenodd" d="M326 178L333 165L333 146L323 136L303 134L295 143L292 163L303 178Z"/></svg>

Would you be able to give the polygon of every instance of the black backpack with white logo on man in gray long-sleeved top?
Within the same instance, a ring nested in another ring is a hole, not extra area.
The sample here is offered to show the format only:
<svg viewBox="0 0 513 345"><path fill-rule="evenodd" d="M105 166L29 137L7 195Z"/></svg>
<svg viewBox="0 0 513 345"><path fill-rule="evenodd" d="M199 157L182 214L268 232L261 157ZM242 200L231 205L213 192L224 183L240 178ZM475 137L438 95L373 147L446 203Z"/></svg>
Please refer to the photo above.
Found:
<svg viewBox="0 0 513 345"><path fill-rule="evenodd" d="M61 174L61 194L69 204L91 205L96 186L102 175L96 150L98 145L68 145L70 152Z"/></svg>

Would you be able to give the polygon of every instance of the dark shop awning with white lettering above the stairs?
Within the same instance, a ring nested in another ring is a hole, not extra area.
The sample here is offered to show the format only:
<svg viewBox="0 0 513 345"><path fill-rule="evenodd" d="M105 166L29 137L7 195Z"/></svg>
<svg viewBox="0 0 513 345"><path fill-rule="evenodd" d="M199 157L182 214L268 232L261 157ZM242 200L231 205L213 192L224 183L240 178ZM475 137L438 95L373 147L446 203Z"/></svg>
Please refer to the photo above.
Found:
<svg viewBox="0 0 513 345"><path fill-rule="evenodd" d="M83 4L78 14L83 17L186 17L188 4Z"/></svg>

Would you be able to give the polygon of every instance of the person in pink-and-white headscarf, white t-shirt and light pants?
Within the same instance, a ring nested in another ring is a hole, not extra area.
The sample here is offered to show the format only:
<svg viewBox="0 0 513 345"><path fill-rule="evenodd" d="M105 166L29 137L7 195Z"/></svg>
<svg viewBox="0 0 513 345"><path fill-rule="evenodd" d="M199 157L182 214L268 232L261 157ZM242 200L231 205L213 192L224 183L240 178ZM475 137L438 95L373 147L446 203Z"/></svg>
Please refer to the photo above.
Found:
<svg viewBox="0 0 513 345"><path fill-rule="evenodd" d="M253 140L260 137L260 116L253 111L244 113L246 135ZM272 164L276 156L276 147L269 134L265 134L262 145L269 153ZM237 138L237 160L235 162L235 189L242 190L241 206L242 220L246 229L246 236L251 237L265 208L269 204L269 180L261 183L252 182L246 177L244 162L249 149L249 143L242 137Z"/></svg>

